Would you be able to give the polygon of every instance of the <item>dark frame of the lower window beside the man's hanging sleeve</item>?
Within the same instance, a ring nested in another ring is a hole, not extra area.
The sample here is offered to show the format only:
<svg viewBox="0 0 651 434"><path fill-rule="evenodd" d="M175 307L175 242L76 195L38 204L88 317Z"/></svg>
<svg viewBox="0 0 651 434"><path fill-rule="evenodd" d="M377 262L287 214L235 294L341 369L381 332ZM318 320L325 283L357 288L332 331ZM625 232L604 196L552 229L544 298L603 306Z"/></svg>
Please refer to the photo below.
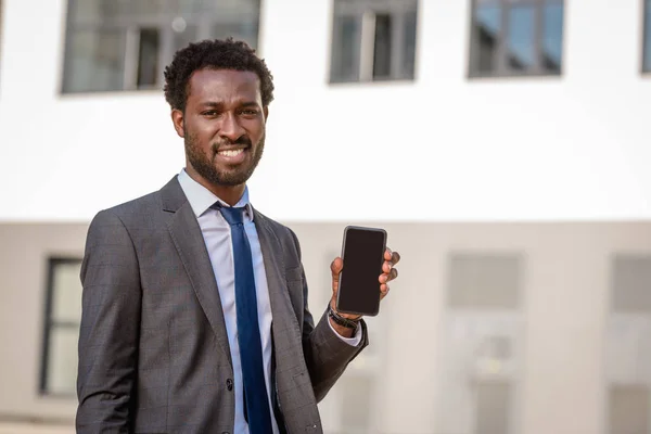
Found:
<svg viewBox="0 0 651 434"><path fill-rule="evenodd" d="M48 397L60 397L71 398L75 394L52 392L48 387L48 368L50 361L52 331L58 328L62 329L77 329L81 326L81 318L79 322L73 321L56 321L52 318L52 308L54 303L54 288L56 267L60 265L81 265L82 258L72 256L51 256L47 259L47 283L46 283L46 297L44 297L44 310L43 310L43 335L42 335L42 347L41 347L41 362L40 362L40 378L38 383L38 394L40 396Z"/></svg>

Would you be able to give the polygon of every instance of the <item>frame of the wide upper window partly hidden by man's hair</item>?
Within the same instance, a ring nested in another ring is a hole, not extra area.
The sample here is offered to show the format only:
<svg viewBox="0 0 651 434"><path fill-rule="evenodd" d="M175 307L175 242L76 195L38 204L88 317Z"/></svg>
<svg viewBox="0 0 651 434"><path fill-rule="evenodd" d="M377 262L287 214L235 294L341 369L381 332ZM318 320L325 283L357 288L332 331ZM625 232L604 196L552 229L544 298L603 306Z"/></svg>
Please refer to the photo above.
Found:
<svg viewBox="0 0 651 434"><path fill-rule="evenodd" d="M216 24L232 24L241 23L244 24L247 20L254 20L257 22L257 33L254 48L259 53L259 39L260 39L260 18L263 12L264 0L253 0L257 2L257 10L250 13L244 8L232 14L206 14L201 7L196 12L174 14L173 7L175 0L163 0L163 12L142 16L138 14L135 17L116 17L106 21L86 21L84 23L75 22L75 12L78 2L84 0L67 0L67 11L65 18L65 42L63 44L62 53L62 65L61 65L61 79L59 93L61 95L76 95L76 94L89 94L89 93L107 93L107 92L140 92L140 91L159 91L163 88L164 79L163 72L165 66L171 63L175 53L175 30L171 27L171 21L176 17L186 20L187 27L195 26L196 34L193 40L210 39L213 31L212 29ZM99 0L95 0L99 1ZM218 7L216 7L218 8ZM232 18L237 17L237 21ZM140 30L142 29L157 29L159 46L157 55L157 82L150 86L138 86L138 71L140 60ZM122 88L112 90L91 89L91 90L71 90L66 89L66 76L72 74L72 63L74 56L72 55L72 48L74 43L74 36L77 31L92 31L100 34L102 31L115 31L124 35L125 41L122 47Z"/></svg>

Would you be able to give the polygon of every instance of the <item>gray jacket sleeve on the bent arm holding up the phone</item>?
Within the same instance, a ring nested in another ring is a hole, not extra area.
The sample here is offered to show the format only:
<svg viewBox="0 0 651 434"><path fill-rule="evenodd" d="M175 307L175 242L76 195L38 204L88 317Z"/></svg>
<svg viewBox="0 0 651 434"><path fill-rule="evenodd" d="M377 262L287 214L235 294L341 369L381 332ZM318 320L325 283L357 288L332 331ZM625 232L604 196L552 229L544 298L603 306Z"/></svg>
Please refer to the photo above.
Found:
<svg viewBox="0 0 651 434"><path fill-rule="evenodd" d="M298 252L298 260L301 261L301 245L296 234L290 230L296 251ZM328 319L328 309L321 315L319 322L315 326L312 316L308 308L307 281L303 265L301 266L302 282L303 282L303 354L305 362L309 371L310 381L317 398L317 403L321 401L328 392L332 388L339 378L344 373L344 370L355 357L369 344L366 322L359 321L362 328L361 342L357 346L352 346L342 341L336 332L332 330Z"/></svg>

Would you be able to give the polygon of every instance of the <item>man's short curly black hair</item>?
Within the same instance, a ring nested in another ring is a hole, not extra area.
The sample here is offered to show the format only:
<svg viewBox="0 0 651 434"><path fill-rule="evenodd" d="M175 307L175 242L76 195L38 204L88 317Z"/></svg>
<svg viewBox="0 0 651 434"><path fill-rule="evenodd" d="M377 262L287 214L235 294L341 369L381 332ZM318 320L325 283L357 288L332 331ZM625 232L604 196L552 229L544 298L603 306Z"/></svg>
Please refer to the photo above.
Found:
<svg viewBox="0 0 651 434"><path fill-rule="evenodd" d="M264 60L246 42L227 38L190 43L165 67L165 100L171 108L186 110L190 77L200 69L250 71L260 79L263 105L273 101L273 76Z"/></svg>

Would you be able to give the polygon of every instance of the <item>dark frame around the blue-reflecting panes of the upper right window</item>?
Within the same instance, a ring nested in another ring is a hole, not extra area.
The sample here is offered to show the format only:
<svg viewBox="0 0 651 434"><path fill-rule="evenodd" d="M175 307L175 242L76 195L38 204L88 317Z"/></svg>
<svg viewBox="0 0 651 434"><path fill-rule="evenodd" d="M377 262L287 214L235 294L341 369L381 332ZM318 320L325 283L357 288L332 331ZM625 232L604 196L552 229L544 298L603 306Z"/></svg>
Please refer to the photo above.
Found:
<svg viewBox="0 0 651 434"><path fill-rule="evenodd" d="M500 9L500 28L497 34L497 52L496 52L496 68L492 73L482 72L477 65L477 59L480 54L478 44L475 41L475 20L478 4L482 0L470 1L470 23L469 23L469 38L468 38L468 74L467 77L471 80L476 79L494 79L494 78L532 78L532 77L562 77L564 75L564 55L565 55L565 23L566 23L566 0L521 0L519 3L522 5L532 4L534 5L534 67L532 71L518 72L508 67L508 36L509 36L509 12L513 5L511 0L495 0ZM558 73L546 71L541 66L542 59L542 41L545 38L545 7L547 3L557 2L563 7L563 22L561 25L561 63Z"/></svg>

